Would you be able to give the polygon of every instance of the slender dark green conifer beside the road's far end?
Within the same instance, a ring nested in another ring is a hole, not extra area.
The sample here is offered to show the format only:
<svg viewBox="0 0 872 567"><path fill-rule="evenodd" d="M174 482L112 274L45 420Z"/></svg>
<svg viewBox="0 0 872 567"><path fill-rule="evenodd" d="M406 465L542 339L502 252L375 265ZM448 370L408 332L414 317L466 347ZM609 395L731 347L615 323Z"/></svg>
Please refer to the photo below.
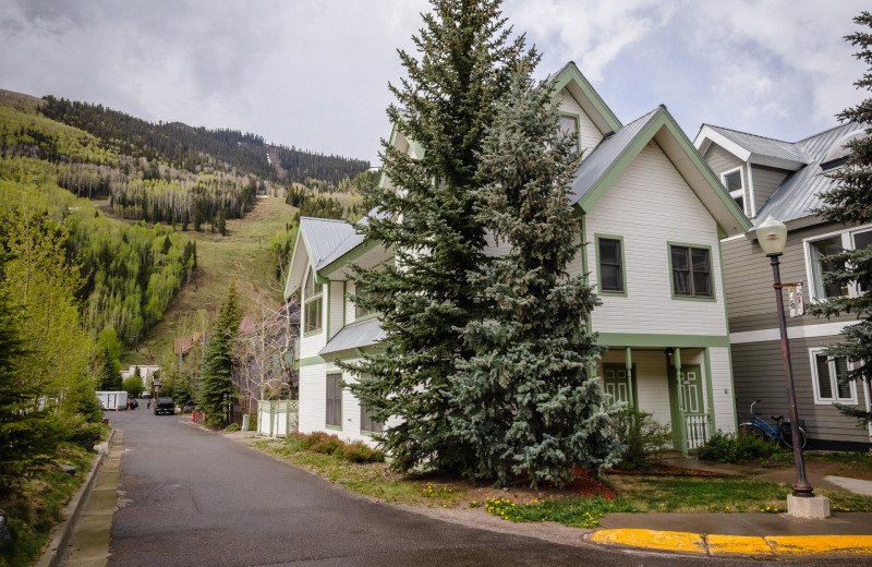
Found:
<svg viewBox="0 0 872 567"><path fill-rule="evenodd" d="M240 321L237 288L231 284L203 361L199 403L209 425L227 425L230 419L230 403L235 397L232 352Z"/></svg>

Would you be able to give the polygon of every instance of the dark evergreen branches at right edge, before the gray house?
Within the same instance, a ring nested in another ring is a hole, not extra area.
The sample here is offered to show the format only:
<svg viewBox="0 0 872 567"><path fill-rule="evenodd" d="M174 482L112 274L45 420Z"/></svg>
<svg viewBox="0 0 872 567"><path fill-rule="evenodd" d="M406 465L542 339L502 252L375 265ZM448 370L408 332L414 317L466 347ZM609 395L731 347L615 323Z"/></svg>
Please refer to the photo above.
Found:
<svg viewBox="0 0 872 567"><path fill-rule="evenodd" d="M857 24L872 27L872 14L862 12L853 19ZM857 88L872 91L872 33L857 32L846 36L851 45L859 46L855 53L869 69L862 79L857 81ZM836 186L821 195L824 206L816 210L826 220L843 225L861 225L872 221L872 98L840 112L837 118L845 122L855 122L865 129L867 137L853 140L847 145L851 150L845 165L831 177L837 181ZM824 275L826 284L838 284L839 287L856 286L856 297L829 298L824 302L811 305L815 315L827 317L839 313L855 313L859 323L845 327L843 340L826 349L829 357L845 358L852 363L851 370L843 379L845 383L863 381L872 387L872 245L845 251L826 256L824 261L837 269ZM872 422L872 412L850 406L837 405L839 410L849 417L857 418L864 425Z"/></svg>

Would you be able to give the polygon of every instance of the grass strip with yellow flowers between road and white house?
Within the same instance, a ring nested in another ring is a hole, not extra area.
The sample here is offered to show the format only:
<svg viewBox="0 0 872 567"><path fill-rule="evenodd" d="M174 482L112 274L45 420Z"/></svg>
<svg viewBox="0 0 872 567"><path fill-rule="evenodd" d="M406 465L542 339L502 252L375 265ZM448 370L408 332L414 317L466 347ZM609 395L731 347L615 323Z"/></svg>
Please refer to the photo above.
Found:
<svg viewBox="0 0 872 567"><path fill-rule="evenodd" d="M623 512L771 512L786 511L791 487L753 479L727 476L608 475L616 498L579 497L570 488L492 488L486 484L435 476L403 475L386 463L355 465L330 455L304 450L294 439L261 441L255 446L330 482L388 503L415 506L471 507L518 522L556 521L594 528L603 515ZM828 496L834 511L872 511L872 497L841 491ZM613 495L614 496L614 495Z"/></svg>

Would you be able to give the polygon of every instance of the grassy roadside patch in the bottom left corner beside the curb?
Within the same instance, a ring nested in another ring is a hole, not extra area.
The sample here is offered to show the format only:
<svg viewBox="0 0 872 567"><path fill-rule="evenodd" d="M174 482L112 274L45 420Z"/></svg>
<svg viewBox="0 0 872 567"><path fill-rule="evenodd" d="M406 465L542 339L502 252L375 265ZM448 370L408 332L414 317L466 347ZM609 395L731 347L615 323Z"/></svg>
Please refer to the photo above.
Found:
<svg viewBox="0 0 872 567"><path fill-rule="evenodd" d="M25 481L21 491L0 494L0 509L9 515L12 533L10 544L0 547L0 565L33 564L48 542L51 529L63 519L63 506L82 485L96 456L77 445L61 444L57 466L48 466L38 476ZM60 465L75 467L76 473L66 474Z"/></svg>

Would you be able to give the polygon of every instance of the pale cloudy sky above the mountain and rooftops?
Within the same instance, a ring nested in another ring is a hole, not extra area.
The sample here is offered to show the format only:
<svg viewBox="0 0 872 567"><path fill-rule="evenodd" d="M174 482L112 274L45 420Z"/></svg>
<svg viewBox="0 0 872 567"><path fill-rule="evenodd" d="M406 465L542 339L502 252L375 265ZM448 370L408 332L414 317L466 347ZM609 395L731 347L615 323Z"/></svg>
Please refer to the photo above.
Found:
<svg viewBox="0 0 872 567"><path fill-rule="evenodd" d="M865 5L864 5L865 4ZM868 96L843 36L862 0L507 0L543 51L576 61L626 122L665 104L796 141ZM99 102L150 121L232 128L378 161L396 49L421 0L0 0L0 88Z"/></svg>

